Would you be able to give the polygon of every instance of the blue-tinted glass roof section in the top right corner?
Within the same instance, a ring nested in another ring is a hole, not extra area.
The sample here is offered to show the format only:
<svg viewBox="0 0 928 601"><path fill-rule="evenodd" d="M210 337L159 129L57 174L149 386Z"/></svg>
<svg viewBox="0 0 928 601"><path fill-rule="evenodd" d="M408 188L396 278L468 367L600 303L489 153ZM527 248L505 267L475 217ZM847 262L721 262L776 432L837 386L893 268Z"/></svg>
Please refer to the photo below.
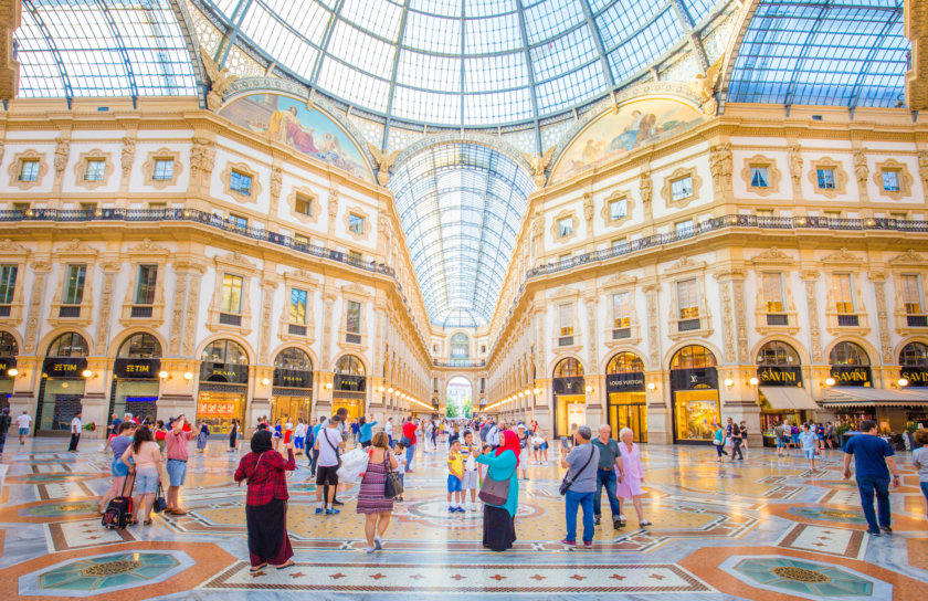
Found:
<svg viewBox="0 0 928 601"><path fill-rule="evenodd" d="M910 44L903 0L763 0L741 42L729 102L895 106Z"/></svg>

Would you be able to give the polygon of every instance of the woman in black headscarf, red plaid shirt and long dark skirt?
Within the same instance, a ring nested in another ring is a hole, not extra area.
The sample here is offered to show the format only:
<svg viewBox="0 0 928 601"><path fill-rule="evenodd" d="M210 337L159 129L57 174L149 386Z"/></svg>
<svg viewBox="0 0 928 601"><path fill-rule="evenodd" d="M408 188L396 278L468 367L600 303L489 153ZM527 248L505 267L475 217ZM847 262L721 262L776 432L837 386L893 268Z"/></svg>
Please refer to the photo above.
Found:
<svg viewBox="0 0 928 601"><path fill-rule="evenodd" d="M293 547L287 536L286 472L296 470L293 442L286 445L287 461L274 451L271 432L261 430L252 436L251 453L235 470L235 482L247 481L245 523L249 529L251 571L268 563L283 570L293 566Z"/></svg>

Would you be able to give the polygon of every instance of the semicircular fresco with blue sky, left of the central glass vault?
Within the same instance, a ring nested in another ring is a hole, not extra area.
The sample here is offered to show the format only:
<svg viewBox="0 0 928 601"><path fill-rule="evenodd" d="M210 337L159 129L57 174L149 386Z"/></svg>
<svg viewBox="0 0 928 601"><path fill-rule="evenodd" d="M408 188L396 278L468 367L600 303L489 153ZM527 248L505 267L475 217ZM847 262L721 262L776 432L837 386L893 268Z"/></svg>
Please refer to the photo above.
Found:
<svg viewBox="0 0 928 601"><path fill-rule="evenodd" d="M278 94L251 94L222 109L232 123L316 157L355 177L373 181L357 146L335 122L318 109Z"/></svg>

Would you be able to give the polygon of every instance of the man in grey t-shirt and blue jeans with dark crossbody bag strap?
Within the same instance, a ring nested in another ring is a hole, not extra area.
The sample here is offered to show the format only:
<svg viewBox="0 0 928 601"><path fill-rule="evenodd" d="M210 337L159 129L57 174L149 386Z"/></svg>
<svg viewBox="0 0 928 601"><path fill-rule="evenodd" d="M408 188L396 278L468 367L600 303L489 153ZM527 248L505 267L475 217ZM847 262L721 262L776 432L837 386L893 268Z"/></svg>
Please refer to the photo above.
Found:
<svg viewBox="0 0 928 601"><path fill-rule="evenodd" d="M562 545L577 546L577 509L583 509L583 547L593 548L593 497L597 492L599 449L590 444L593 433L588 425L581 425L573 433L573 447L561 460L567 477L572 482L565 495L567 537ZM624 467L623 467L624 468Z"/></svg>

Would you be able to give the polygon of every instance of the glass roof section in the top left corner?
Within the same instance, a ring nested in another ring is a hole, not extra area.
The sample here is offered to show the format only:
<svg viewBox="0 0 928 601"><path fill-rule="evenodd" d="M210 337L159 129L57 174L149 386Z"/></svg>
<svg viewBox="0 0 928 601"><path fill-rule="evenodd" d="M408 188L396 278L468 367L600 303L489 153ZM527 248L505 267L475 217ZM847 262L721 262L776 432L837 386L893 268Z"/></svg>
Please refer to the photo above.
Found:
<svg viewBox="0 0 928 601"><path fill-rule="evenodd" d="M197 95L170 0L22 0L19 96Z"/></svg>

